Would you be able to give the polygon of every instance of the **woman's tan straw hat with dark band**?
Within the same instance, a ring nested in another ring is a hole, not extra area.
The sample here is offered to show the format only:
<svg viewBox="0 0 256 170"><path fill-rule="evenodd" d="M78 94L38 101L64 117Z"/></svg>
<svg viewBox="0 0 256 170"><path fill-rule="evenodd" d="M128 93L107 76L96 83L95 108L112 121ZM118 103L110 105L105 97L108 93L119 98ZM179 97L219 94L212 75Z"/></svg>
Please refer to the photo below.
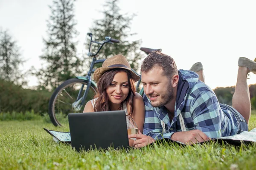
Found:
<svg viewBox="0 0 256 170"><path fill-rule="evenodd" d="M133 71L131 71L131 66L130 66L129 62L127 61L127 59L125 58L125 56L123 56L121 54L117 54L113 57L110 57L110 58L106 59L103 62L102 67L97 68L94 71L94 74L93 74L94 80L96 82L98 82L99 79L102 77L102 75L106 71L111 70L113 68L123 68L125 70L130 71L131 78L134 80L134 82L137 82L140 79L140 76L138 76Z"/></svg>

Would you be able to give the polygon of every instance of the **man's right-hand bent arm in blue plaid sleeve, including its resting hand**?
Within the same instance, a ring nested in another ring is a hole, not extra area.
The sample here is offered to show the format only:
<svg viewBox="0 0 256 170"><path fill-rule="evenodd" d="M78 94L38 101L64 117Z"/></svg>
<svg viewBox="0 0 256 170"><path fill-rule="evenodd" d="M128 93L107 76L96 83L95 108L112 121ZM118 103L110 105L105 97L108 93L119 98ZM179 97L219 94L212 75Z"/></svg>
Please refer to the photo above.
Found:
<svg viewBox="0 0 256 170"><path fill-rule="evenodd" d="M175 132L172 140L194 144L221 137L221 108L212 91L202 88L189 107L196 130Z"/></svg>

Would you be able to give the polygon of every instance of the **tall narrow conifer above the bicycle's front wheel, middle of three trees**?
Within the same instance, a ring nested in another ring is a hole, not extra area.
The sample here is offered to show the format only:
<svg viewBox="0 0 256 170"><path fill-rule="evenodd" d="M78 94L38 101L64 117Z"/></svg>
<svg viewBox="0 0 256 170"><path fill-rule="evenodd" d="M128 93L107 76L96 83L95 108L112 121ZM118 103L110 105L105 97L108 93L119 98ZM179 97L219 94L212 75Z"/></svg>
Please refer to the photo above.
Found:
<svg viewBox="0 0 256 170"><path fill-rule="evenodd" d="M46 66L36 73L41 87L47 90L57 88L61 82L80 73L81 60L76 55L76 42L73 41L77 35L74 1L54 0L49 6L52 11L47 21L49 38L43 39L46 48L40 56Z"/></svg>

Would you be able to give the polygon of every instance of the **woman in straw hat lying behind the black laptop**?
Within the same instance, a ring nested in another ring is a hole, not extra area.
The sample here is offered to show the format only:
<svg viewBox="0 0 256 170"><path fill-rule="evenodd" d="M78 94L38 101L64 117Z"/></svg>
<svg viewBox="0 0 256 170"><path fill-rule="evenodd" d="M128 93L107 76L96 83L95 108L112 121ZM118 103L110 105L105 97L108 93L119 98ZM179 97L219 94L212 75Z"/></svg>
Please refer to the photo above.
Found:
<svg viewBox="0 0 256 170"><path fill-rule="evenodd" d="M145 107L142 96L135 92L134 82L140 77L131 71L131 66L123 55L106 59L101 68L94 71L94 80L98 91L95 99L84 107L84 113L96 111L124 110L136 122L140 132L143 131ZM133 146L134 140L129 139Z"/></svg>

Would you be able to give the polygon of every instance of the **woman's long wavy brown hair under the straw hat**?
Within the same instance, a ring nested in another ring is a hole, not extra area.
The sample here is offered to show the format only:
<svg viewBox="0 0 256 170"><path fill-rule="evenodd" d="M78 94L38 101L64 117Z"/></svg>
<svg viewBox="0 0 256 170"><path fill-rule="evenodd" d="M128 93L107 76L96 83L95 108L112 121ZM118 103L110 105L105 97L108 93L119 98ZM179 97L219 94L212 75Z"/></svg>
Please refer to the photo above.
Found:
<svg viewBox="0 0 256 170"><path fill-rule="evenodd" d="M95 107L94 107L94 111L110 111L110 101L108 99L108 94L106 89L110 86L114 76L116 75L116 73L121 72L121 71L125 71L127 73L128 76L128 86L129 86L129 93L128 96L126 97L126 99L124 101L122 101L119 110L123 109L123 104L126 102L129 105L131 105L131 111L130 113L128 113L128 115L132 115L133 110L134 110L134 96L135 96L135 85L134 85L134 80L131 79L131 73L129 71L126 71L125 69L122 68L115 68L109 71L106 71L102 77L99 79L99 81L97 82L97 86L98 86L98 90L97 90L97 94L94 98L98 98L96 99L95 102Z"/></svg>

